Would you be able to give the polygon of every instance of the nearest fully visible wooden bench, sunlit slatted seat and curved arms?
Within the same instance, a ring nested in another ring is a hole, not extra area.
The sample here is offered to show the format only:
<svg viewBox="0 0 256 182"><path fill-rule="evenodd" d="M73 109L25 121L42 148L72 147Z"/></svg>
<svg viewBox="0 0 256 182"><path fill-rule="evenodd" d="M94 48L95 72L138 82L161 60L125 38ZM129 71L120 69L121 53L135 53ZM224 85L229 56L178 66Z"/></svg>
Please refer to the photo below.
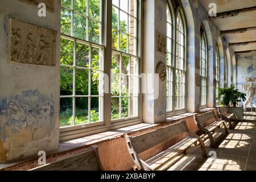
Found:
<svg viewBox="0 0 256 182"><path fill-rule="evenodd" d="M180 134L188 133L188 137L181 140L179 143L168 148L167 150L161 152L158 155L155 155L151 159L146 160L145 162L139 158L138 154L143 151L146 151L160 143L166 142L172 138L177 137ZM196 134L189 133L188 127L185 121L175 123L174 125L169 125L149 131L141 135L131 137L126 135L126 144L131 158L139 169L144 171L152 170L164 170L169 168L174 163L172 160L179 156L180 154L185 154L186 150L191 147L193 144L199 142L201 144L201 152L203 156L206 155L205 145L203 140Z"/></svg>

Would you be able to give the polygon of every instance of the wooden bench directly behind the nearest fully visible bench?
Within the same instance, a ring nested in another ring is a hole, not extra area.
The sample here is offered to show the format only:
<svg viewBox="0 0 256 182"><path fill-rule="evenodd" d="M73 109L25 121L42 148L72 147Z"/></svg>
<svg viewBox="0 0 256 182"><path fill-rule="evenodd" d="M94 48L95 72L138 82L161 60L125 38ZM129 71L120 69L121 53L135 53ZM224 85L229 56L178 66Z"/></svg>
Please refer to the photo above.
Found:
<svg viewBox="0 0 256 182"><path fill-rule="evenodd" d="M199 130L208 135L210 139L210 147L216 148L217 145L212 134L217 128L220 128L221 125L224 125L225 133L228 134L228 127L226 126L225 121L218 119L214 111L196 115L195 117Z"/></svg>

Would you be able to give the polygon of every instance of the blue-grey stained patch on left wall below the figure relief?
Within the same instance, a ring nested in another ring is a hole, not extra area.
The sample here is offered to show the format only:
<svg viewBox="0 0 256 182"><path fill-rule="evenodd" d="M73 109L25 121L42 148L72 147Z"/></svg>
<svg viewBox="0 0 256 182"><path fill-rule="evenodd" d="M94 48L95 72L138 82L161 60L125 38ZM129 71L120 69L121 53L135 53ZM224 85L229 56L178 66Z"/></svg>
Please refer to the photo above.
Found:
<svg viewBox="0 0 256 182"><path fill-rule="evenodd" d="M5 127L13 134L24 129L35 130L40 126L53 127L54 102L36 90L26 90L13 98L1 98L1 139L5 140ZM49 122L50 121L50 122Z"/></svg>

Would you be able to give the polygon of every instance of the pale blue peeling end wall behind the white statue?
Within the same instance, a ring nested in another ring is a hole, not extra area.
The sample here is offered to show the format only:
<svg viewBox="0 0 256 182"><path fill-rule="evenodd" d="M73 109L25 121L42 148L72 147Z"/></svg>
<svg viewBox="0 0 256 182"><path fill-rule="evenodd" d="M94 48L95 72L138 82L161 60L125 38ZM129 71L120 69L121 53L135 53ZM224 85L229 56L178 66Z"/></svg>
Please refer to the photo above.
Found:
<svg viewBox="0 0 256 182"><path fill-rule="evenodd" d="M254 86L256 85L256 53L246 53L237 55L237 88L242 90L243 84L250 84L246 82L246 77L254 77ZM243 91L246 93L246 91ZM254 102L256 96L254 96Z"/></svg>

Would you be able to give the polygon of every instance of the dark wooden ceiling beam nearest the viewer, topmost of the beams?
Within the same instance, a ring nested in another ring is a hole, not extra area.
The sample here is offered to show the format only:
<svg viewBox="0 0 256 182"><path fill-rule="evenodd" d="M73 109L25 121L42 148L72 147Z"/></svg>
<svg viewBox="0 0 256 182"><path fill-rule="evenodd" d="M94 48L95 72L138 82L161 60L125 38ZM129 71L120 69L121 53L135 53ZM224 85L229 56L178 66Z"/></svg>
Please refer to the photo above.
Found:
<svg viewBox="0 0 256 182"><path fill-rule="evenodd" d="M228 18L228 17L237 16L240 13L245 13L245 12L255 11L255 10L256 10L256 6L246 7L246 8L243 8L243 9L226 11L226 12L222 12L222 13L217 13L216 16L209 16L209 19Z"/></svg>

